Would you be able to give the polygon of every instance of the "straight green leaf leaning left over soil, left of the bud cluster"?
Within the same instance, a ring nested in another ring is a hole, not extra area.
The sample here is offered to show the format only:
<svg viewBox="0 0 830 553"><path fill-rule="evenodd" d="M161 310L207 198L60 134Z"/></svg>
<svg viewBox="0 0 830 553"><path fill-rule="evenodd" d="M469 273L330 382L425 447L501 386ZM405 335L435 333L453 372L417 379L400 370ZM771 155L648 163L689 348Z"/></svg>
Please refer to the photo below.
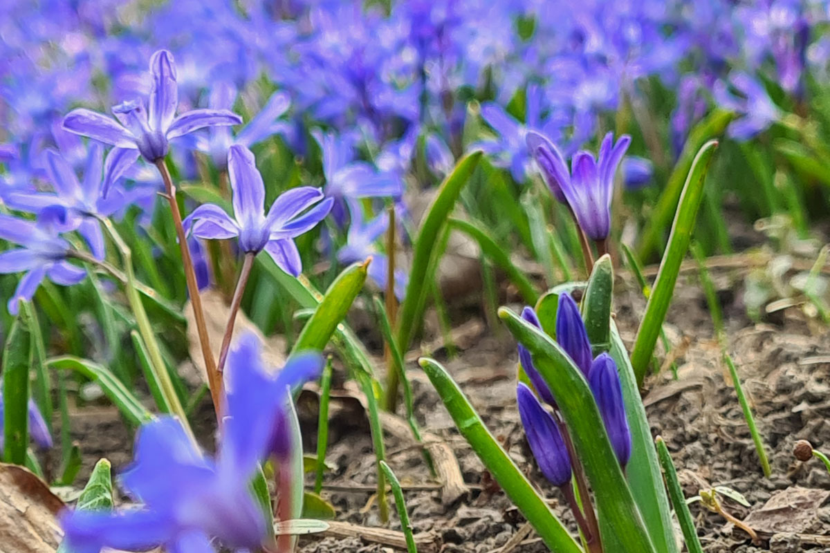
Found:
<svg viewBox="0 0 830 553"><path fill-rule="evenodd" d="M447 407L458 431L470 444L484 466L496 478L507 497L510 497L516 507L533 525L536 532L548 546L550 551L557 553L581 553L582 548L562 522L550 510L544 498L536 492L533 485L525 478L520 468L507 455L504 449L486 428L481 417L466 398L464 392L452 380L447 369L432 359L421 358L419 361L424 372L427 373L432 386L441 396L444 406ZM612 454L613 455L613 454ZM637 551L637 550L632 550ZM643 550L647 551L647 550Z"/></svg>

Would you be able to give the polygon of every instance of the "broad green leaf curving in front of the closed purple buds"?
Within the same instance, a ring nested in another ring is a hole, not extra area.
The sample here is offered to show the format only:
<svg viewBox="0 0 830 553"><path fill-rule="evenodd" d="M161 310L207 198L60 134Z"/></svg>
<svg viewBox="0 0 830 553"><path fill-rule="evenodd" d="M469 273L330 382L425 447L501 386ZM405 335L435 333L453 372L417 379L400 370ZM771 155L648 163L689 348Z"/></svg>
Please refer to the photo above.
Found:
<svg viewBox="0 0 830 553"><path fill-rule="evenodd" d="M582 372L559 344L539 328L510 309L501 308L499 316L516 340L530 351L536 369L549 386L568 424L574 448L579 452L588 482L595 491L603 546L607 551L657 551L623 470L614 462L616 457L608 434Z"/></svg>

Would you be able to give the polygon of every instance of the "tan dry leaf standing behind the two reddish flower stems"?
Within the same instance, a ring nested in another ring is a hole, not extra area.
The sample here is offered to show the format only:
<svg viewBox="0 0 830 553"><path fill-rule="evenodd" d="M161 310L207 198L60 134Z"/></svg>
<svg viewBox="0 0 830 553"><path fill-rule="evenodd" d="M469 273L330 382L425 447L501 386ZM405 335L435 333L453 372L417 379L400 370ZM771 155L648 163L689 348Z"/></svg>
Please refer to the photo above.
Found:
<svg viewBox="0 0 830 553"><path fill-rule="evenodd" d="M205 324L207 325L207 334L210 337L210 345L213 350L213 358L219 357L219 348L222 347L222 337L225 335L225 326L227 325L227 317L230 314L230 308L225 303L222 293L214 289L205 289L200 294L202 298L202 307L205 313ZM202 357L202 348L199 346L199 335L196 330L196 320L193 318L193 308L188 300L184 306L184 316L188 320L188 351L190 359L196 366L196 374L194 371L185 369L182 376L188 381L195 381L194 383L207 383L207 371L205 370L205 362ZM286 363L286 341L282 337L269 337L266 339L256 327L256 324L251 323L251 320L242 313L240 309L237 313L237 322L233 326L233 339L239 336L241 332L253 332L263 344L262 354L265 358L265 364L269 367L281 367ZM231 342L233 344L233 340Z"/></svg>

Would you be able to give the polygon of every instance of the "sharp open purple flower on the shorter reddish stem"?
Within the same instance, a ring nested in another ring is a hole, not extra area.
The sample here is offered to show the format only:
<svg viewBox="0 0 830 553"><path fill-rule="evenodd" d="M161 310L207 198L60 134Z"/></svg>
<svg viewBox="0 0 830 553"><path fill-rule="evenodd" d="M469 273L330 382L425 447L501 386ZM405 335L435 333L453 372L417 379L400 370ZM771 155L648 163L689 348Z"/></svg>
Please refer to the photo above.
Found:
<svg viewBox="0 0 830 553"><path fill-rule="evenodd" d="M302 261L293 239L322 221L329 214L333 200L323 200L323 192L318 188L292 188L276 198L266 216L265 184L251 150L233 145L227 154L227 167L234 217L214 204L198 206L185 219L185 232L192 228L198 238L214 240L238 236L240 250L253 254L266 250L286 273L299 275Z"/></svg>

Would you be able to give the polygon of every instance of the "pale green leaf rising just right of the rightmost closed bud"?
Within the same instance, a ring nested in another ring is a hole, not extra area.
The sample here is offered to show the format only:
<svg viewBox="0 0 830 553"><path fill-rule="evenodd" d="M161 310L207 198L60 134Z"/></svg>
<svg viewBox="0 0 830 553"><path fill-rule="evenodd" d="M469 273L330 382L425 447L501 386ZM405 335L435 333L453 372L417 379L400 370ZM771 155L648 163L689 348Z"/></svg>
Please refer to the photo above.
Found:
<svg viewBox="0 0 830 553"><path fill-rule="evenodd" d="M608 353L617 363L628 428L631 429L631 460L626 467L628 485L657 551L676 553L671 512L652 442L652 429L648 424L646 409L642 405L637 379L631 362L628 361L625 345L614 323L611 323L611 349Z"/></svg>

